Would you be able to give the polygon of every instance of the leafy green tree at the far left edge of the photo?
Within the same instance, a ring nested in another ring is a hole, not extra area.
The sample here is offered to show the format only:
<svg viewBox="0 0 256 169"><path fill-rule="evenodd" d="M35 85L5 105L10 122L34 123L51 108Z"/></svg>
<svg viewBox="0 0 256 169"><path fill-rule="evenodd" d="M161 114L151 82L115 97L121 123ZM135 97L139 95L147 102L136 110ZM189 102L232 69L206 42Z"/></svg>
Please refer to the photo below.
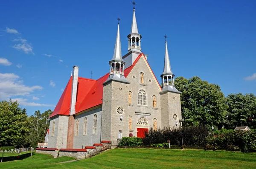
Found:
<svg viewBox="0 0 256 169"><path fill-rule="evenodd" d="M26 109L20 108L17 101L0 102L1 146L22 143L28 132L26 118Z"/></svg>

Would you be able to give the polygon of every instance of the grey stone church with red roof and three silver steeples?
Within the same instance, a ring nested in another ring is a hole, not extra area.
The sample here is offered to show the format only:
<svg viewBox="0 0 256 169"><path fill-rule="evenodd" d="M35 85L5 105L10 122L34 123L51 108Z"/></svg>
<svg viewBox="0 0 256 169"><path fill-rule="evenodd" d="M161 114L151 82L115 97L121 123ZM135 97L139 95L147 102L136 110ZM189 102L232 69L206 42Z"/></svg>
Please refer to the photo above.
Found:
<svg viewBox="0 0 256 169"><path fill-rule="evenodd" d="M79 77L79 67L73 67L49 117L48 148L81 149L101 141L116 144L118 138L144 137L151 127L179 127L180 92L175 88L167 42L159 83L141 49L135 8L127 37L128 53L122 56L118 23L105 76L96 80Z"/></svg>

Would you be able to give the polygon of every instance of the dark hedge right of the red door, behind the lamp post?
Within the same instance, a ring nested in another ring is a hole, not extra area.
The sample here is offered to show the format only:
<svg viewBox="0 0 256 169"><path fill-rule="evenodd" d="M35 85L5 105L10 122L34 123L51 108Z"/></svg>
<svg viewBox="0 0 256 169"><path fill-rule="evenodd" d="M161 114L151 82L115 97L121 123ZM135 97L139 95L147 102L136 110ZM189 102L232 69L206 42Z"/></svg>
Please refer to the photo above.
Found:
<svg viewBox="0 0 256 169"><path fill-rule="evenodd" d="M207 127L192 126L183 127L182 129L183 142L185 146L204 146L204 140L209 135ZM148 135L143 138L143 145L150 146L151 144L162 144L170 141L172 146L181 146L181 131L180 128L166 127L154 131L149 130Z"/></svg>

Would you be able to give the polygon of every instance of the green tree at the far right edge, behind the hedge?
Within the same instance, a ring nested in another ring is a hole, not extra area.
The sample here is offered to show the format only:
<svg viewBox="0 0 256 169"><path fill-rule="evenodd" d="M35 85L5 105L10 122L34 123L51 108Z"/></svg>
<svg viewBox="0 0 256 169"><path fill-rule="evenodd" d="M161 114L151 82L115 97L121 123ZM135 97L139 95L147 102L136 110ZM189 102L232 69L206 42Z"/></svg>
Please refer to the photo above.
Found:
<svg viewBox="0 0 256 169"><path fill-rule="evenodd" d="M227 95L230 127L256 128L256 96L242 93Z"/></svg>

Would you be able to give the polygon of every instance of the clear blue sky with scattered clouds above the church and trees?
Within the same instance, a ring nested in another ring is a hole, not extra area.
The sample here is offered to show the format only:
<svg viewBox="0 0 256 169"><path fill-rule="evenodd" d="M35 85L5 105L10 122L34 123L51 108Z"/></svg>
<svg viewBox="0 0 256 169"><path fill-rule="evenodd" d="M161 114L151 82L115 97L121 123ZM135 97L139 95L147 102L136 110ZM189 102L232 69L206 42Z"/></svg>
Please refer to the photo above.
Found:
<svg viewBox="0 0 256 169"><path fill-rule="evenodd" d="M229 93L256 94L255 0L137 0L141 47L160 81L166 34L175 77L199 76ZM54 110L70 78L109 71L120 17L128 50L131 0L2 1L0 99L17 99L28 115Z"/></svg>

